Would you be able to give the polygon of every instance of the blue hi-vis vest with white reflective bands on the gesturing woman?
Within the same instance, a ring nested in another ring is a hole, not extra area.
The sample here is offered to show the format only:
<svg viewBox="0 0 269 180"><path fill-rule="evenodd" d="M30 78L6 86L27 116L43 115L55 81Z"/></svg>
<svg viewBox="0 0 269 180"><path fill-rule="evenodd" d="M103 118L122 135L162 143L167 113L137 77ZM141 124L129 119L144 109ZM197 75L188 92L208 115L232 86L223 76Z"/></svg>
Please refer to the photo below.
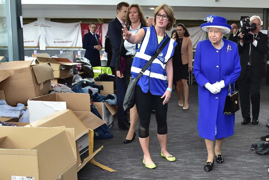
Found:
<svg viewBox="0 0 269 180"><path fill-rule="evenodd" d="M154 26L146 27L145 37L135 54L133 64L131 67L132 77L136 77L144 65L149 61L151 56L156 52L166 38L170 38L168 35L158 45L157 34ZM173 56L176 46L174 39L166 44L162 52L154 59L148 69L144 72L138 81L142 91L147 93L150 91L152 95L163 95L168 87L167 76L165 71L166 62Z"/></svg>

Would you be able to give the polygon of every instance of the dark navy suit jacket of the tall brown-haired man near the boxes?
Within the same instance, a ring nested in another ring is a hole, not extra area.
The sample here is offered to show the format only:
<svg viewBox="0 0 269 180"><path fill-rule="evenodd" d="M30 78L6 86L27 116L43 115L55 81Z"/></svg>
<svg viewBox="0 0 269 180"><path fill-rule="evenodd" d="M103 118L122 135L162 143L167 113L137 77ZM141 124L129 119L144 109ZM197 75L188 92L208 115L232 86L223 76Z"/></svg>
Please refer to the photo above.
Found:
<svg viewBox="0 0 269 180"><path fill-rule="evenodd" d="M118 18L113 19L108 23L108 35L112 44L113 54L110 66L115 67L116 66L116 59L117 54L120 50L120 40L121 40L121 32L122 32L122 25Z"/></svg>

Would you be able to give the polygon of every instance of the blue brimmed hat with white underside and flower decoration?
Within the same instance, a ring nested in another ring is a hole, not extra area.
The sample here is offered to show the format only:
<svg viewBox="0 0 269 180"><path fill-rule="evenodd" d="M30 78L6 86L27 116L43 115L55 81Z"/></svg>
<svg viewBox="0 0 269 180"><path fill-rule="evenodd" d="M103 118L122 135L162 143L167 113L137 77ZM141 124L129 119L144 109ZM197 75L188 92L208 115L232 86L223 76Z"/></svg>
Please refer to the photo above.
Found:
<svg viewBox="0 0 269 180"><path fill-rule="evenodd" d="M203 19L204 21L207 21L207 23L201 24L201 29L203 31L207 31L207 28L219 28L224 30L224 34L228 34L231 32L232 27L227 24L227 19L221 17L221 16L214 16L213 15L207 15L206 18Z"/></svg>

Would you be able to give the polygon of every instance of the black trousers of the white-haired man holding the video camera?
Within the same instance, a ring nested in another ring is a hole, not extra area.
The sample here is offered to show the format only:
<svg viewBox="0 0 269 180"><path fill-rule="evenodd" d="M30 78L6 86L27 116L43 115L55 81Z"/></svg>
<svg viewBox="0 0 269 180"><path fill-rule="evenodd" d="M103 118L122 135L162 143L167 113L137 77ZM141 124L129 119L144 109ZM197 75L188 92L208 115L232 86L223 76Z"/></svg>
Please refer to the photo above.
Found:
<svg viewBox="0 0 269 180"><path fill-rule="evenodd" d="M258 119L260 112L260 78L255 78L249 67L241 80L237 80L242 117L250 118L250 99L252 103L252 118Z"/></svg>

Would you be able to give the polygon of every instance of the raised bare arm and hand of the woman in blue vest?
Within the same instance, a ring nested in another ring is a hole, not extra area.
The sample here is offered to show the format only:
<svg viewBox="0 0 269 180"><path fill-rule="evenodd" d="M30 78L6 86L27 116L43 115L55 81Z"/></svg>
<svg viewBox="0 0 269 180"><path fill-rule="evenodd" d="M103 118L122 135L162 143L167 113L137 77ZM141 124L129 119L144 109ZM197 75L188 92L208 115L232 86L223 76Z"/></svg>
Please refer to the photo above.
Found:
<svg viewBox="0 0 269 180"><path fill-rule="evenodd" d="M143 28L133 35L130 31L127 30L126 26L121 29L123 32L123 39L126 39L129 43L139 44L145 36L145 30Z"/></svg>

